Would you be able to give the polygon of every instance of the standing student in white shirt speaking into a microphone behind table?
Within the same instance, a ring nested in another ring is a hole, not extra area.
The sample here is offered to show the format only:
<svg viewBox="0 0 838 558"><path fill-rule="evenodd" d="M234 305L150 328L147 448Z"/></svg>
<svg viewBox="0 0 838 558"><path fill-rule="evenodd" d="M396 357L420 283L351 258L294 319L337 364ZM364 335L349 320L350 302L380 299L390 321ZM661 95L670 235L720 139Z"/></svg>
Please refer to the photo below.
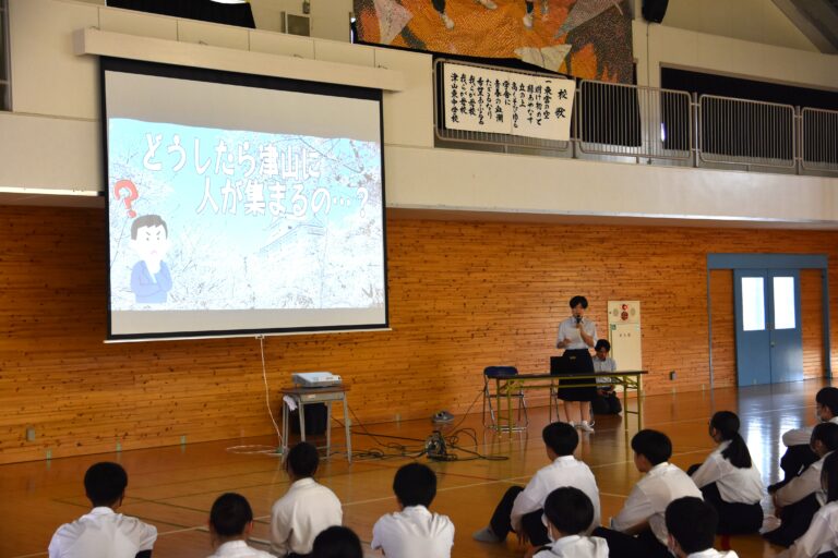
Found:
<svg viewBox="0 0 838 558"><path fill-rule="evenodd" d="M585 318L588 308L588 300L585 296L571 299L571 317L559 324L559 336L555 340L556 349L564 349L562 357L568 363L567 367L574 374L591 374L594 361L590 357L590 348L597 343L597 325ZM574 380L562 380L559 387L559 399L564 401L564 410L567 422L584 432L594 432L585 413L590 409L590 402L597 397L596 387L565 387L573 385ZM591 378L575 380L577 384L592 384ZM575 422L578 414L579 421Z"/></svg>

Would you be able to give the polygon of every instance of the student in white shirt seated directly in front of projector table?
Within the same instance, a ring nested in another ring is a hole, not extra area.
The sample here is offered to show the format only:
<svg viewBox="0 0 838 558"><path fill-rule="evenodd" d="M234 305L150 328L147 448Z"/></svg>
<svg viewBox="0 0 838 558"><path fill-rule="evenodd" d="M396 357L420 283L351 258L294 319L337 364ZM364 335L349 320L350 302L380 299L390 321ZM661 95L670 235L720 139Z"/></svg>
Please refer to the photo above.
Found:
<svg viewBox="0 0 838 558"><path fill-rule="evenodd" d="M320 456L314 446L301 441L288 452L285 468L291 486L271 509L271 551L277 556L304 556L318 534L344 519L335 493L318 484Z"/></svg>

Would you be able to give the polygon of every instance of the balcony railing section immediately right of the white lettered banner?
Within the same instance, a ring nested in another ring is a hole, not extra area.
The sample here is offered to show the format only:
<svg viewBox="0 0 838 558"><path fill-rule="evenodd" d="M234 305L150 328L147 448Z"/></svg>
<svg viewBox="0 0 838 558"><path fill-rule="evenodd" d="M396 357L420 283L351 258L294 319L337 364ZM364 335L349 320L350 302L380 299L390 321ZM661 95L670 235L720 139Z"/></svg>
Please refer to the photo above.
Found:
<svg viewBox="0 0 838 558"><path fill-rule="evenodd" d="M691 158L689 93L583 81L578 99L576 122L583 153Z"/></svg>

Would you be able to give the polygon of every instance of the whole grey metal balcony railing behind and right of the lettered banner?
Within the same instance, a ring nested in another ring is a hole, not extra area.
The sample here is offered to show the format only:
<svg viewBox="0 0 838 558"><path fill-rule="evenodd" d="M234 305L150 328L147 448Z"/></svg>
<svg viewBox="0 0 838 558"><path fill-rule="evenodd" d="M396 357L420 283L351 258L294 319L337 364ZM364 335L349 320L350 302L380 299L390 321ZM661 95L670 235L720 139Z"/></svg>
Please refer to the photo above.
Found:
<svg viewBox="0 0 838 558"><path fill-rule="evenodd" d="M670 160L696 167L737 165L838 173L838 111L584 80L576 89L570 142L466 132L444 126L441 68L436 65L434 72L434 130L438 140L454 146L482 144L556 155L571 151L574 157L623 156L637 162Z"/></svg>

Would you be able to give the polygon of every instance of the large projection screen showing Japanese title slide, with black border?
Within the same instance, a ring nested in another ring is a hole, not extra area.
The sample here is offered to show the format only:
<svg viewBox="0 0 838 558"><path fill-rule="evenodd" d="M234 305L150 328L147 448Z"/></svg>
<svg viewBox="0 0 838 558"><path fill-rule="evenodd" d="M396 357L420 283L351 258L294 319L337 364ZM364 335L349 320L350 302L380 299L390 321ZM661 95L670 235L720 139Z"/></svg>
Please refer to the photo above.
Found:
<svg viewBox="0 0 838 558"><path fill-rule="evenodd" d="M109 340L387 327L381 92L101 65Z"/></svg>

